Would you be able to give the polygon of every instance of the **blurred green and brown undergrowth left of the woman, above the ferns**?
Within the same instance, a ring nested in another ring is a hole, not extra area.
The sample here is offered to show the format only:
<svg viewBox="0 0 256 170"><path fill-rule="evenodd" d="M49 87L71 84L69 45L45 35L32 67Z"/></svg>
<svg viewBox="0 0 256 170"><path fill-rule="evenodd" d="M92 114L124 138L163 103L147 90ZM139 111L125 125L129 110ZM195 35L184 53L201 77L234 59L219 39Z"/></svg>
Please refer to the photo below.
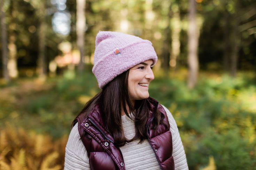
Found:
<svg viewBox="0 0 256 170"><path fill-rule="evenodd" d="M12 120L54 137L68 134L71 122L83 105L99 92L93 74L77 75L73 79L52 78L43 84L23 79L2 89L0 121Z"/></svg>

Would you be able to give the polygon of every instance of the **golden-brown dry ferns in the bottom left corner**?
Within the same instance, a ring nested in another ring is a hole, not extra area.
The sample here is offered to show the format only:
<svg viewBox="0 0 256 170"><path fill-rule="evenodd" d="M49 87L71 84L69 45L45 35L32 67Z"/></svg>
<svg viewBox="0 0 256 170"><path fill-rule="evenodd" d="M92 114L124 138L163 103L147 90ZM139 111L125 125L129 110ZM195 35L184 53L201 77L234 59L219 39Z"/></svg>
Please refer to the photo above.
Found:
<svg viewBox="0 0 256 170"><path fill-rule="evenodd" d="M49 135L6 125L0 130L0 170L63 169L68 136L53 141Z"/></svg>

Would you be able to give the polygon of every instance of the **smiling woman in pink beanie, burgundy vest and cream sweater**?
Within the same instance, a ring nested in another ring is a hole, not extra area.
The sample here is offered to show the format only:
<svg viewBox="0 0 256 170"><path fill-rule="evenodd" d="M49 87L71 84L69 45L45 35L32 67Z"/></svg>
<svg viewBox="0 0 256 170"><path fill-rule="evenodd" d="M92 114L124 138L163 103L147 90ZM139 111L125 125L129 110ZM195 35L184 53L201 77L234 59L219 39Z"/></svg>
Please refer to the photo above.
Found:
<svg viewBox="0 0 256 170"><path fill-rule="evenodd" d="M92 71L102 91L73 121L65 169L188 169L175 120L149 97L156 61L148 40L97 34Z"/></svg>

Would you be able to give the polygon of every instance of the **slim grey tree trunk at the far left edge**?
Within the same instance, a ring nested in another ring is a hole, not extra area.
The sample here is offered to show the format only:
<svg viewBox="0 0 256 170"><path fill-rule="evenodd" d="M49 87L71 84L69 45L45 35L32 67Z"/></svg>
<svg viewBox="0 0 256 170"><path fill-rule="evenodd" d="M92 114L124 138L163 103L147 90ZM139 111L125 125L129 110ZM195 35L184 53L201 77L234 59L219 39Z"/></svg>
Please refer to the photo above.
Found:
<svg viewBox="0 0 256 170"><path fill-rule="evenodd" d="M7 31L6 31L6 25L5 25L5 13L3 12L3 0L1 0L1 3L0 3L0 9L1 9L3 77L5 78L6 82L9 83L10 77L7 69L7 62L8 62Z"/></svg>

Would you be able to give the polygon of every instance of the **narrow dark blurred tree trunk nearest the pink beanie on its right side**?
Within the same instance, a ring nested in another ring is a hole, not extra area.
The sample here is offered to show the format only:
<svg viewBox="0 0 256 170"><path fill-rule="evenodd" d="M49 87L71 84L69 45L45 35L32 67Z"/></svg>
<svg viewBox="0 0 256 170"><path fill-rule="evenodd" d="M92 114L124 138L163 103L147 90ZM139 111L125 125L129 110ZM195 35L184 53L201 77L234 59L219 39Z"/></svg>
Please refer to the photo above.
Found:
<svg viewBox="0 0 256 170"><path fill-rule="evenodd" d="M163 42L163 51L162 51L162 66L165 70L165 73L168 73L168 70L170 68L170 49L171 49L171 28L170 28L170 20L172 16L172 11L171 11L171 3L169 6L169 13L168 13L168 18L167 18L167 26L164 31L165 39Z"/></svg>

